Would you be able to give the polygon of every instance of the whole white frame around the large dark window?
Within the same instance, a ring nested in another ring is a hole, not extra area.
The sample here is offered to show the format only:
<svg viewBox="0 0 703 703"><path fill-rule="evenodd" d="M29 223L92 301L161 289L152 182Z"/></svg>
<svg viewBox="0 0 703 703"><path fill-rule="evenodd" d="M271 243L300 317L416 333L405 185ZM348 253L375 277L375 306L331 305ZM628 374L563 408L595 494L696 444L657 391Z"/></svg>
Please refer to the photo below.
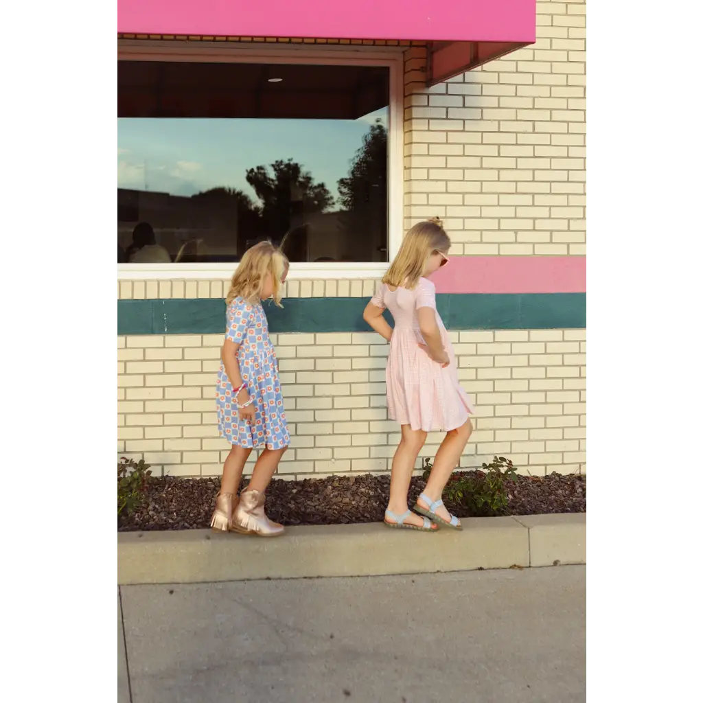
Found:
<svg viewBox="0 0 703 703"><path fill-rule="evenodd" d="M213 61L386 66L389 69L388 254L392 261L403 239L403 51L397 46L243 44L219 41L117 40L117 60ZM115 120L117 128L117 119ZM205 280L230 278L237 264L115 264L117 280ZM290 280L380 278L387 262L292 263Z"/></svg>

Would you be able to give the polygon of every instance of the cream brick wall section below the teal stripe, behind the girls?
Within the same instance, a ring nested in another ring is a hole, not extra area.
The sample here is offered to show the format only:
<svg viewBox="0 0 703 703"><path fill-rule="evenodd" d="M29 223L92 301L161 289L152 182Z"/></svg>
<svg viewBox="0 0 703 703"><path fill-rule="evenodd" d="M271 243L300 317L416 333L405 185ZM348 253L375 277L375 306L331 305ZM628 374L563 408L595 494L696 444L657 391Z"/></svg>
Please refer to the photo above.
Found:
<svg viewBox="0 0 703 703"><path fill-rule="evenodd" d="M459 378L477 405L461 467L497 453L533 475L585 472L586 330L450 334ZM292 434L280 477L389 470L399 425L387 415L387 344L375 333L272 337ZM155 475L221 474L229 449L214 401L222 339L117 338L120 455L144 458ZM433 457L442 437L431 433L421 457Z"/></svg>

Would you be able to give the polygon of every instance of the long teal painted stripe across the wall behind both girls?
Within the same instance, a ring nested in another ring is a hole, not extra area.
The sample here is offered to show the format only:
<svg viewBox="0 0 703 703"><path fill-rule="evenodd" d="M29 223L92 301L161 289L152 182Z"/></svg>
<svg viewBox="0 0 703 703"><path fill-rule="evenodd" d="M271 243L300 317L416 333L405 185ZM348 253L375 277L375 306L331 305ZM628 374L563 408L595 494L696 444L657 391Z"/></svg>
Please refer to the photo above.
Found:
<svg viewBox="0 0 703 703"><path fill-rule="evenodd" d="M269 330L368 332L361 315L368 298L287 298L283 309L266 304ZM586 328L586 293L446 293L437 310L450 330ZM388 312L386 317L392 319ZM118 300L118 335L186 335L224 332L223 299Z"/></svg>

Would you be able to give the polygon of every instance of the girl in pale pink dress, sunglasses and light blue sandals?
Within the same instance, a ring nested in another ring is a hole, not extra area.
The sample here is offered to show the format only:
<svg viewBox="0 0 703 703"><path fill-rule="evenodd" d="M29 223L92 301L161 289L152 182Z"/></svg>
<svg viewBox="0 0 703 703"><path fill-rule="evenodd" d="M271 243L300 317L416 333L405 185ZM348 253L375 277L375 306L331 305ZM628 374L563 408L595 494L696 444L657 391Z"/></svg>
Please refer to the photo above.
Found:
<svg viewBox="0 0 703 703"><path fill-rule="evenodd" d="M387 527L435 531L461 529L444 507L442 491L473 430L474 406L459 385L456 356L434 302L431 276L449 261L451 242L439 219L416 224L406 234L363 318L390 344L386 366L388 411L401 425L401 440L391 467ZM389 309L394 329L383 318ZM446 437L434 458L425 491L408 510L408 489L427 432Z"/></svg>

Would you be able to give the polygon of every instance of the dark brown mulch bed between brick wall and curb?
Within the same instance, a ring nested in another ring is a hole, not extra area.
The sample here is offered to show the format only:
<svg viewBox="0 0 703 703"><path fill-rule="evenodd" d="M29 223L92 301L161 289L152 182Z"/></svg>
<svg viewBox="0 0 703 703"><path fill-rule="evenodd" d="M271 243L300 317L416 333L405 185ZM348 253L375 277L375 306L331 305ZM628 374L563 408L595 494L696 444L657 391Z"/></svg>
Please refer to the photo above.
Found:
<svg viewBox="0 0 703 703"><path fill-rule="evenodd" d="M471 473L471 472L467 472ZM509 482L508 482L509 483ZM586 512L586 477L553 473L520 476L510 484L507 515L548 512ZM350 524L383 520L390 476L370 474L303 481L271 481L266 491L266 514L284 525ZM425 488L413 477L408 503ZM118 531L180 530L209 527L219 478L155 478L141 508L120 520ZM470 512L446 502L458 517Z"/></svg>

